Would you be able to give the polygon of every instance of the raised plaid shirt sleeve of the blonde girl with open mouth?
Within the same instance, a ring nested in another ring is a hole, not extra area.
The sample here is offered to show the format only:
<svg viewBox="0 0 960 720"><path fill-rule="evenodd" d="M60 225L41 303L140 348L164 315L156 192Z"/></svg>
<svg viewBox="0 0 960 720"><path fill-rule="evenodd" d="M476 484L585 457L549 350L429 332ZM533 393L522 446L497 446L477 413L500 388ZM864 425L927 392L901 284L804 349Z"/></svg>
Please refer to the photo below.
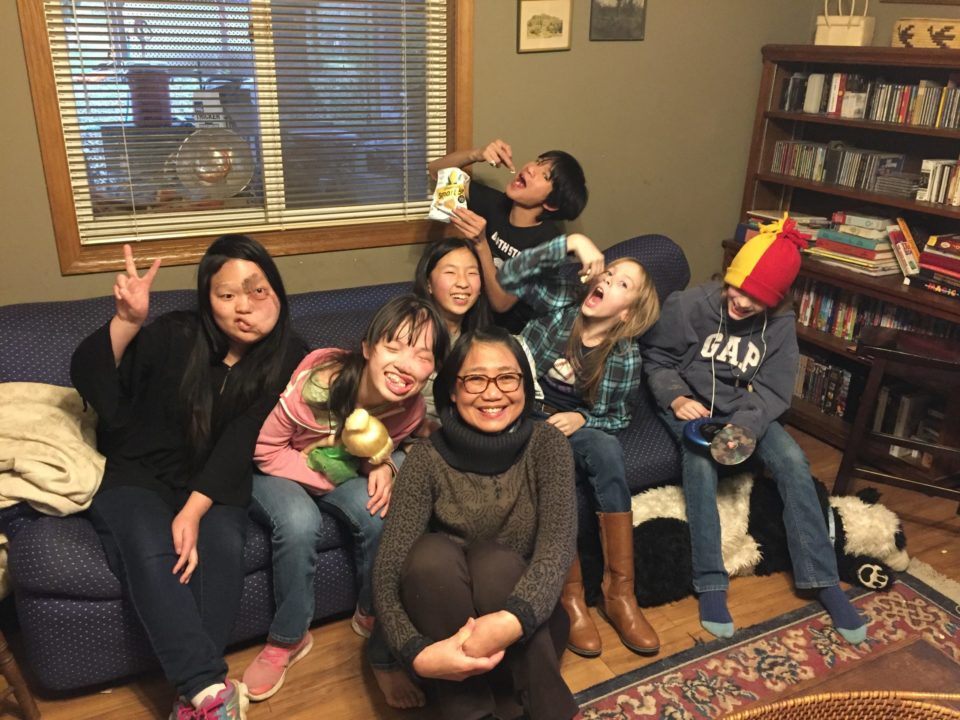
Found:
<svg viewBox="0 0 960 720"><path fill-rule="evenodd" d="M574 303L581 288L560 273L544 273L567 262L567 236L524 250L510 258L497 272L500 287L543 310L559 310ZM531 282L539 278L538 282Z"/></svg>

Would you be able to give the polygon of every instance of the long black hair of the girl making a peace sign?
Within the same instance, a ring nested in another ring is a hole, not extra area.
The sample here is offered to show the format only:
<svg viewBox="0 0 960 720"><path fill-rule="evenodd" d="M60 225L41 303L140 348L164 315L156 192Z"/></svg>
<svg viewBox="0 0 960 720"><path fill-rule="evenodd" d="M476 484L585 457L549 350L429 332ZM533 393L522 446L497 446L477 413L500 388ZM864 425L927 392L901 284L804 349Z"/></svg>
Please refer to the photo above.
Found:
<svg viewBox="0 0 960 720"><path fill-rule="evenodd" d="M213 276L229 260L249 260L260 268L280 303L280 315L266 337L252 345L233 366L230 382L215 399L211 372L223 362L230 341L213 317L210 285ZM290 308L280 271L263 245L246 235L223 235L211 243L197 268L197 315L199 328L180 382L180 412L194 469L206 460L224 424L246 410L264 388L282 388L287 380L283 368L292 334Z"/></svg>

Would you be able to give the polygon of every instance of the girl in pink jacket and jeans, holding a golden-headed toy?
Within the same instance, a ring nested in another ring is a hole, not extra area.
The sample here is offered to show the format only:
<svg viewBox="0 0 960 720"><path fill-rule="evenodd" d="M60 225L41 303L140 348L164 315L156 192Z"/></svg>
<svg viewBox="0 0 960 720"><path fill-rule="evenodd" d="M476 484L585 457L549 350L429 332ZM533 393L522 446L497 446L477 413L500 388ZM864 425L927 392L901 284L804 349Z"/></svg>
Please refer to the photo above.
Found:
<svg viewBox="0 0 960 720"><path fill-rule="evenodd" d="M394 447L424 417L424 384L446 354L447 333L434 306L414 295L377 311L361 351L314 350L300 363L263 424L254 460L251 516L271 530L277 612L267 644L243 674L251 700L265 700L312 646L314 575L329 515L353 534L359 597L353 629L373 627L370 576L390 505L396 463L370 465L347 454L342 426L362 408L386 426Z"/></svg>

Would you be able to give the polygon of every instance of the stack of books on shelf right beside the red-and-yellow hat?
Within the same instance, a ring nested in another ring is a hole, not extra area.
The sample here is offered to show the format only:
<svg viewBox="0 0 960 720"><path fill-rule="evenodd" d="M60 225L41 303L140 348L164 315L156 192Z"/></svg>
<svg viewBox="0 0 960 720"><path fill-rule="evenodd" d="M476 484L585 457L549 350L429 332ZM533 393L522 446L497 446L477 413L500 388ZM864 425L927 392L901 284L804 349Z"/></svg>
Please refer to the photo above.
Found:
<svg viewBox="0 0 960 720"><path fill-rule="evenodd" d="M881 277L900 272L887 228L893 221L871 215L834 213L833 228L817 230L804 252L828 265Z"/></svg>

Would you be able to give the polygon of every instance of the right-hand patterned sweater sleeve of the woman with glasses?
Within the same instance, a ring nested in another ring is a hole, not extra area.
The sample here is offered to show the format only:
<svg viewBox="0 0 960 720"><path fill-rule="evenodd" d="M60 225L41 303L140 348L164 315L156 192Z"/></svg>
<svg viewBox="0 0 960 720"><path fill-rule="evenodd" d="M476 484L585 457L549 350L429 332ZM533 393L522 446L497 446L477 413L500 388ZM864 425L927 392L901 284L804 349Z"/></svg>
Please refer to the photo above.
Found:
<svg viewBox="0 0 960 720"><path fill-rule="evenodd" d="M559 430L543 423L533 449L537 487L537 538L533 555L504 609L520 621L523 640L547 621L577 549L573 453Z"/></svg>

